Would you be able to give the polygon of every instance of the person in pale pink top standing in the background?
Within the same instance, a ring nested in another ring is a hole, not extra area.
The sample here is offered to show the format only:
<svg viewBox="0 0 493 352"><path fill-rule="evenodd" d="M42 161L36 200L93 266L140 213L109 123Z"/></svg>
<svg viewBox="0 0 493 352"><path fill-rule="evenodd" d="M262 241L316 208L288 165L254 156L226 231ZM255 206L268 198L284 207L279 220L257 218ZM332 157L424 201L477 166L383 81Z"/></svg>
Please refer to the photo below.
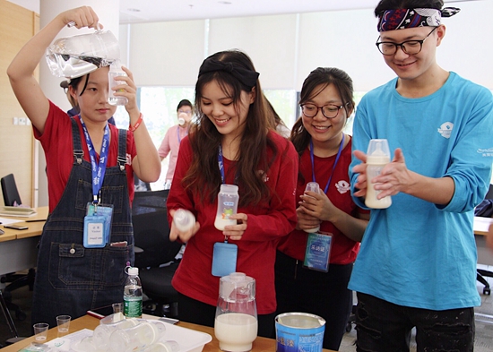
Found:
<svg viewBox="0 0 493 352"><path fill-rule="evenodd" d="M181 100L177 106L178 124L169 128L164 135L164 139L162 140L160 149L158 150L161 161L169 154L168 172L166 173L165 183L166 189L169 189L169 185L173 180L175 167L177 167L180 143L188 134L192 116L194 116L194 107L192 106L190 100Z"/></svg>

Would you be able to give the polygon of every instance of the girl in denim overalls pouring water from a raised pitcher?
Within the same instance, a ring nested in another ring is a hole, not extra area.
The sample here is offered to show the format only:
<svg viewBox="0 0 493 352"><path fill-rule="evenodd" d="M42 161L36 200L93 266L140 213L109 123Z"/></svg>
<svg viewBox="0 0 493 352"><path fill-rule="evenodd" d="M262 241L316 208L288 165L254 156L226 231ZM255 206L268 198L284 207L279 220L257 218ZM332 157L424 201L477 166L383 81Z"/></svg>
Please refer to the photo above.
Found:
<svg viewBox="0 0 493 352"><path fill-rule="evenodd" d="M59 13L22 47L7 69L47 159L49 216L39 243L32 322L50 326L56 326L59 314L75 319L122 300L125 266L134 261L133 175L148 182L160 176L158 151L137 107L128 69L124 68L128 77L118 77L126 84L116 85L115 95L128 99L130 131L108 124L117 108L108 104L108 67L71 80L68 90L80 116L65 118L66 112L39 87L34 70L58 32L72 21L78 29L97 29L99 18L88 6ZM90 210L101 216L112 211L109 233L105 228L100 235L95 227L102 222L87 214ZM107 234L108 241L103 239Z"/></svg>

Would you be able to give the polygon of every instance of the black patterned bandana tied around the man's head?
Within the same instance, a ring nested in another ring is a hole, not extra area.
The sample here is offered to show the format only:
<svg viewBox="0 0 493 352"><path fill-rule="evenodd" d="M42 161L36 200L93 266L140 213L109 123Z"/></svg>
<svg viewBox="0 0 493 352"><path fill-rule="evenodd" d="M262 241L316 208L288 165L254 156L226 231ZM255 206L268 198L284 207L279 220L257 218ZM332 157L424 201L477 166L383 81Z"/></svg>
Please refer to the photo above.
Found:
<svg viewBox="0 0 493 352"><path fill-rule="evenodd" d="M378 31L404 30L415 27L437 27L442 17L452 17L461 9L456 7L445 7L437 9L397 9L385 10L378 15Z"/></svg>

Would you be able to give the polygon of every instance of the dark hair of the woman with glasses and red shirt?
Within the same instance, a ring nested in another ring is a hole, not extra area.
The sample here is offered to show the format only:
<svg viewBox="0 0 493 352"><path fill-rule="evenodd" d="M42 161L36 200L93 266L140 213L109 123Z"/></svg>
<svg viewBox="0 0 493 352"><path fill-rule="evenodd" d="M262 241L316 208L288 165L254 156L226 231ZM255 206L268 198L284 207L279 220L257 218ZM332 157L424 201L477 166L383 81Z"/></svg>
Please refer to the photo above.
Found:
<svg viewBox="0 0 493 352"><path fill-rule="evenodd" d="M299 105L306 103L308 100L316 97L328 85L333 84L339 92L342 99L342 104L346 110L346 115L350 115L350 111L354 109L352 80L348 73L345 73L335 67L318 67L308 74L301 87L299 95ZM293 125L291 130L290 140L301 157L303 151L307 149L310 142L310 133L307 132L301 116Z"/></svg>

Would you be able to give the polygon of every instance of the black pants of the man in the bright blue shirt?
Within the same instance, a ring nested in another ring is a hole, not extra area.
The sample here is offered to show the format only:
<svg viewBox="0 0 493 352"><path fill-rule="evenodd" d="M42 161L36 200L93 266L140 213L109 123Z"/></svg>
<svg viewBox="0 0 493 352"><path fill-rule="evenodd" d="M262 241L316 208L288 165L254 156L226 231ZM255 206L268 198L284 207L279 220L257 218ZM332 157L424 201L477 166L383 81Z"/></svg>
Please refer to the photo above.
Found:
<svg viewBox="0 0 493 352"><path fill-rule="evenodd" d="M433 311L394 305L358 293L357 351L409 352L413 327L418 352L465 352L474 348L473 308Z"/></svg>

